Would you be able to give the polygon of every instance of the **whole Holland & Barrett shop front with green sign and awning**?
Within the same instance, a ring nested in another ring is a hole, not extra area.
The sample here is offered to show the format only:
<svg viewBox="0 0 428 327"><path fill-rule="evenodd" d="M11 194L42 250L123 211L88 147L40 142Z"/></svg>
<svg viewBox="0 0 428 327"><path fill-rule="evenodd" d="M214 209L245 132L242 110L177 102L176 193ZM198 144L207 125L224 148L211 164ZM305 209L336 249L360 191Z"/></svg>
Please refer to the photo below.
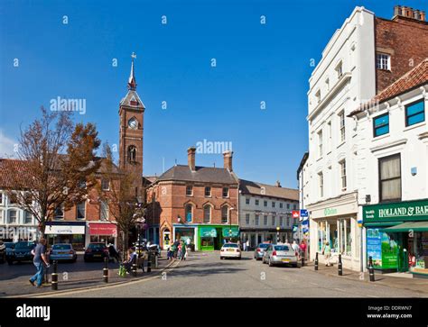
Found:
<svg viewBox="0 0 428 327"><path fill-rule="evenodd" d="M428 199L364 205L363 223L376 269L428 277Z"/></svg>

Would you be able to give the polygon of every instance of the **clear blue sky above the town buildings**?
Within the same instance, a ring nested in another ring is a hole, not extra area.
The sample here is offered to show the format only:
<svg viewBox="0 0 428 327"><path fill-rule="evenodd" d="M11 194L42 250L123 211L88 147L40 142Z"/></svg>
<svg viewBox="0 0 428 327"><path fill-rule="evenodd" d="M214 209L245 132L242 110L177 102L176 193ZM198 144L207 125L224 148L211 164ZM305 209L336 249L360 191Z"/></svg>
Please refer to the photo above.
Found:
<svg viewBox="0 0 428 327"><path fill-rule="evenodd" d="M391 18L398 3L428 9L423 0L3 0L0 155L58 96L86 99L76 121L96 123L102 141L118 143L118 103L135 51L144 175L161 174L163 160L165 169L186 164L187 148L205 139L232 142L239 177L295 187L308 149L310 60L321 59L356 5ZM197 154L196 163L222 167L223 158Z"/></svg>

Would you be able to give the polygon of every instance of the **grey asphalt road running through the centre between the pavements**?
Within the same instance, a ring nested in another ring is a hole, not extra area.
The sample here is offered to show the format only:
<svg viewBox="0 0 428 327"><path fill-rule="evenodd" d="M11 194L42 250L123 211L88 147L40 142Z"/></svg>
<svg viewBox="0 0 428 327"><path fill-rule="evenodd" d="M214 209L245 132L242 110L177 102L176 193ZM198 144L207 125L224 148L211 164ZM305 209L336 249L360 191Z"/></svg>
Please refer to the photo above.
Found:
<svg viewBox="0 0 428 327"><path fill-rule="evenodd" d="M50 297L53 295L50 295ZM219 252L191 253L163 276L130 285L72 291L62 297L421 297L394 287L329 277L306 268L268 267L244 253L241 260Z"/></svg>

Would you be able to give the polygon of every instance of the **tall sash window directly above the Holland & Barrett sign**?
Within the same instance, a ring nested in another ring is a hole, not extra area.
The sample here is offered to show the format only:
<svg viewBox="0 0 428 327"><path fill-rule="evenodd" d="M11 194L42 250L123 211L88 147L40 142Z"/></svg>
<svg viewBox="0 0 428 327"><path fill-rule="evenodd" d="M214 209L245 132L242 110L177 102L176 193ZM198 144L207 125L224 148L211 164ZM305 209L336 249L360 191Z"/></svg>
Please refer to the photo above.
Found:
<svg viewBox="0 0 428 327"><path fill-rule="evenodd" d="M401 201L400 154L379 159L379 193L381 202Z"/></svg>

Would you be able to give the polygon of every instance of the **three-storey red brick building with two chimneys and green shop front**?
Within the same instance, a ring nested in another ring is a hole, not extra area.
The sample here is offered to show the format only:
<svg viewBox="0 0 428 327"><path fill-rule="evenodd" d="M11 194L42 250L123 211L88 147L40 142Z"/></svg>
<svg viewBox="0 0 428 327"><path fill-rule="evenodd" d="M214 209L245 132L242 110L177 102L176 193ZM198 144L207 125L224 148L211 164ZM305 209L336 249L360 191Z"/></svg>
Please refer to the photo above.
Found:
<svg viewBox="0 0 428 327"><path fill-rule="evenodd" d="M224 168L196 166L195 154L196 148L189 148L188 165L170 168L147 187L147 220L159 233L163 249L187 238L196 250L219 249L224 240L237 240L233 152L224 152Z"/></svg>

